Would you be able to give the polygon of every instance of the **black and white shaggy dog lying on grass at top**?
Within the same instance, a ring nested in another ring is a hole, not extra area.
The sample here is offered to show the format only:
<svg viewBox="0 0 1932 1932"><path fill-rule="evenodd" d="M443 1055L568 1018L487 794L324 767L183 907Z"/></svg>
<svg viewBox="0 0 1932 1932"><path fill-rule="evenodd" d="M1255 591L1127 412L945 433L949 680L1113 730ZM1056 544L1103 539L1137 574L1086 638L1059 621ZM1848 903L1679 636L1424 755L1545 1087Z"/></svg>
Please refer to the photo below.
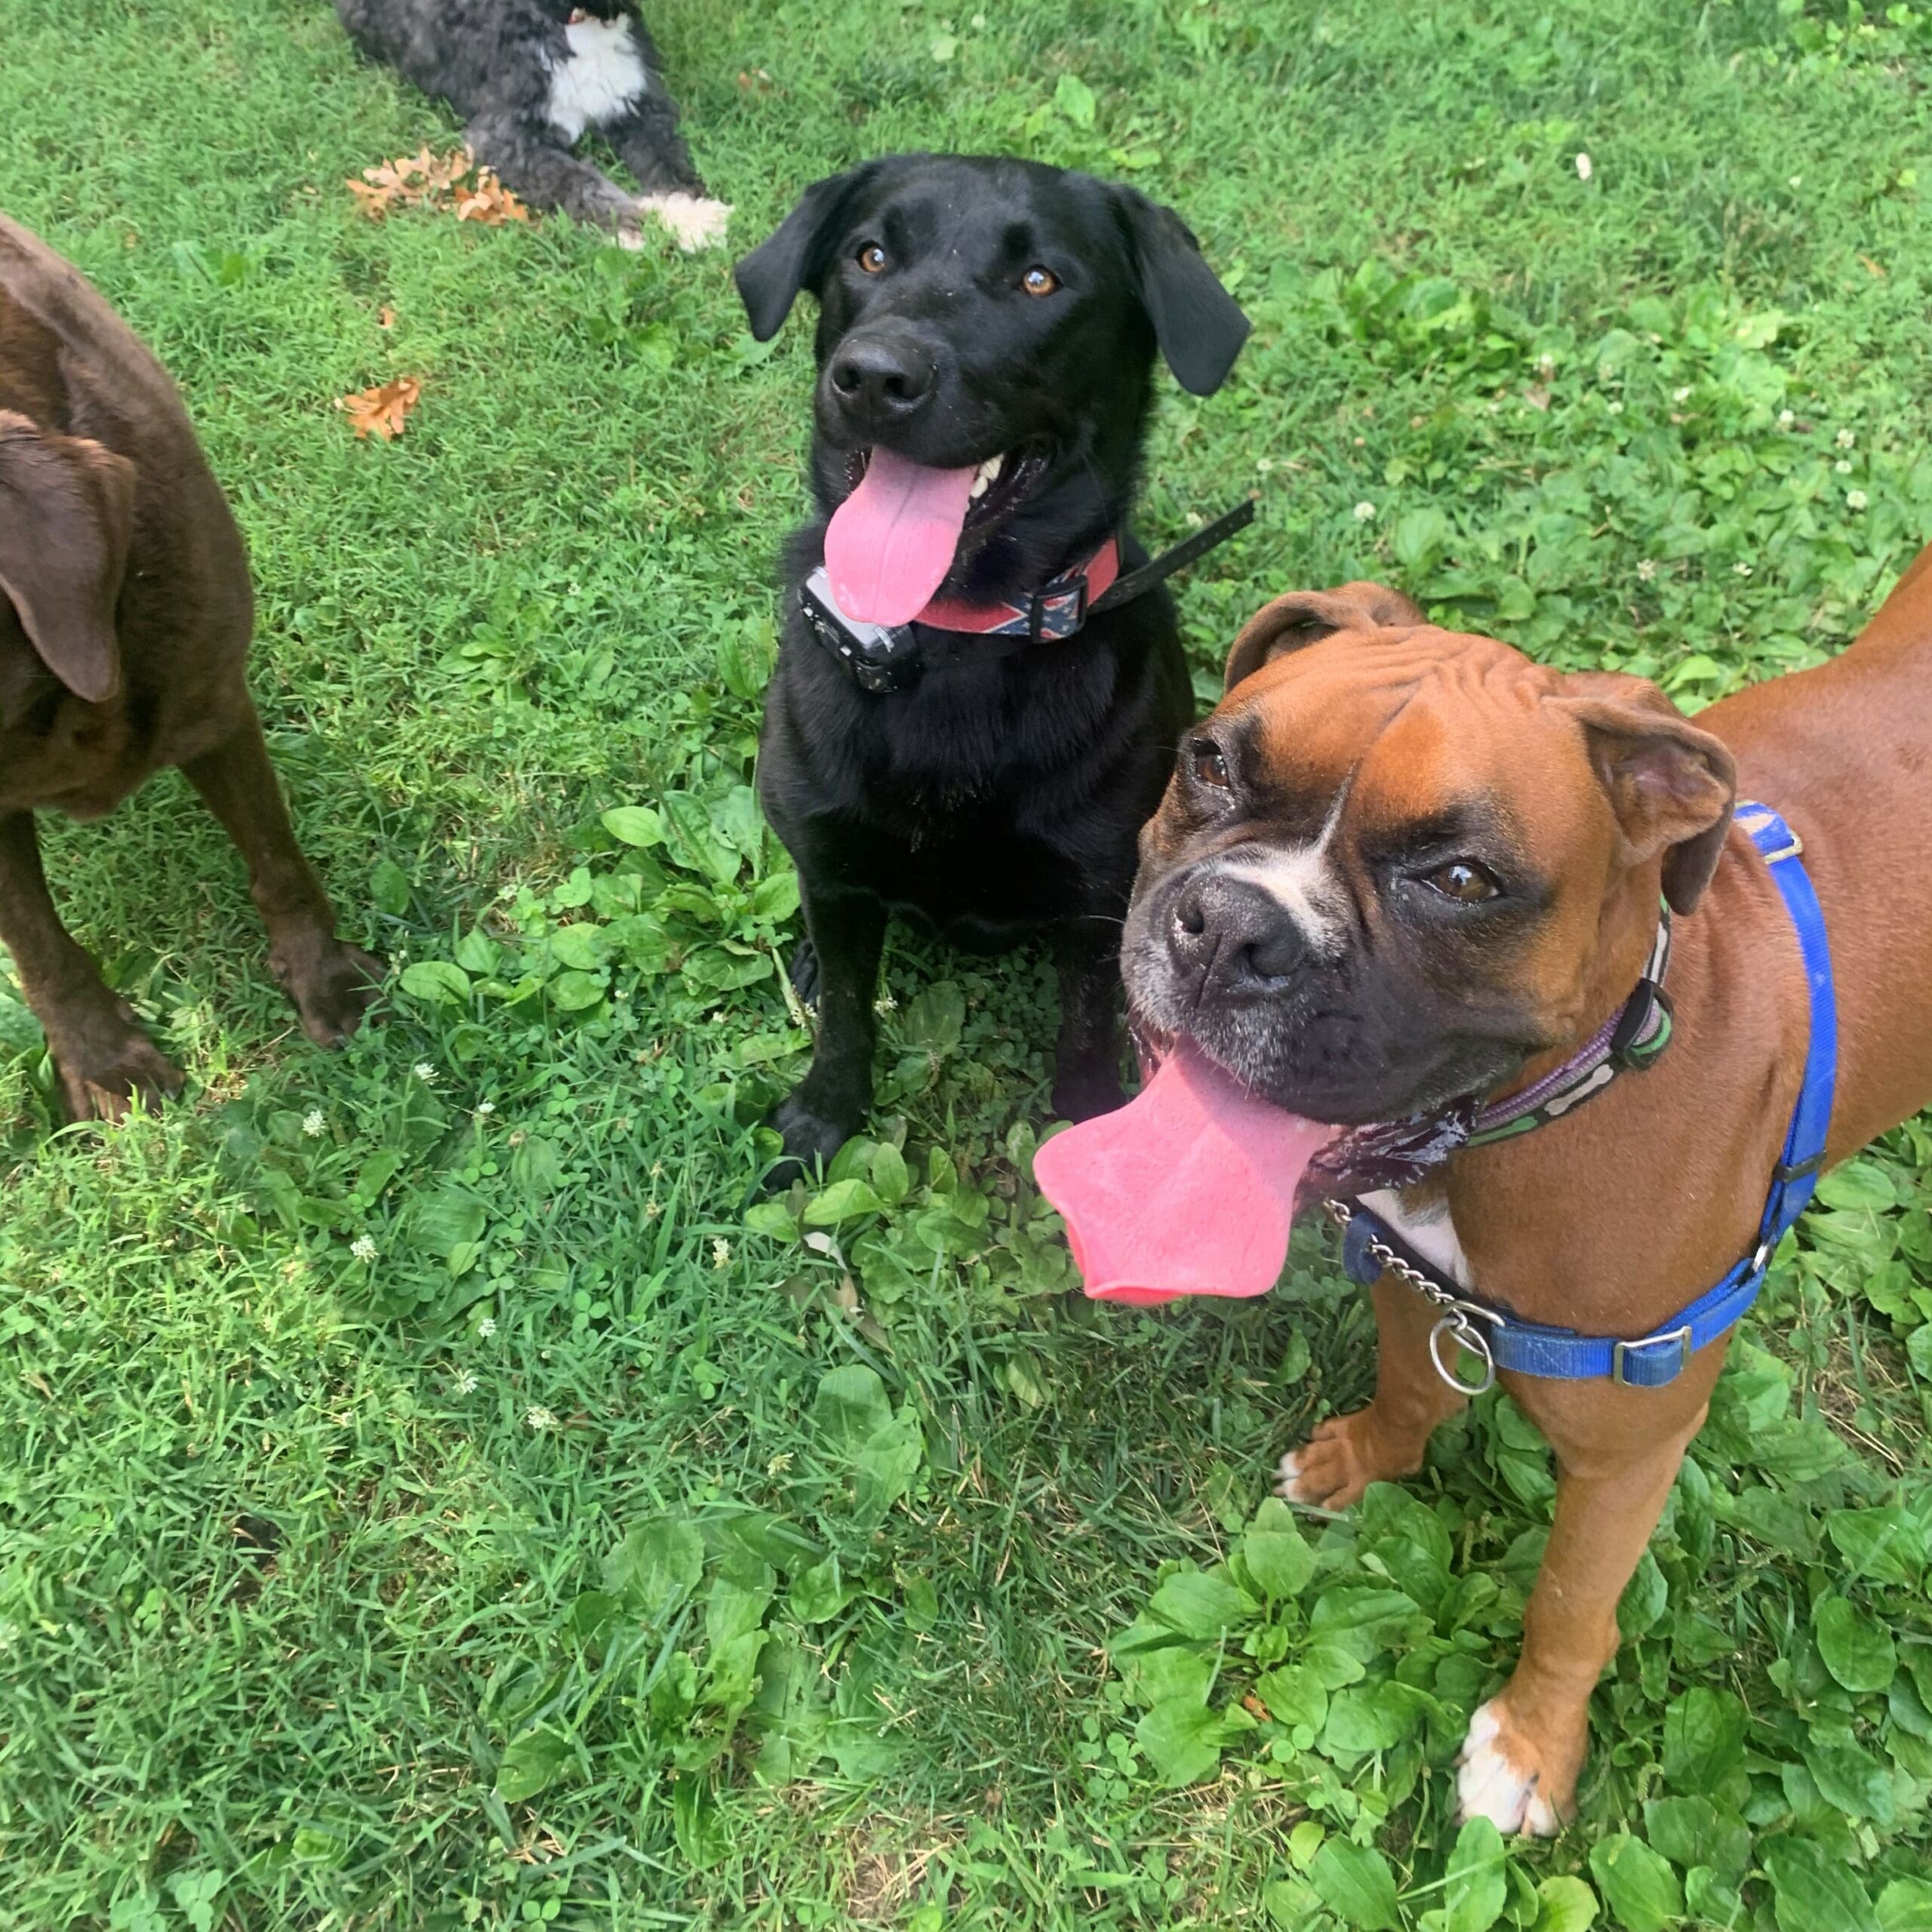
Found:
<svg viewBox="0 0 1932 1932"><path fill-rule="evenodd" d="M630 0L336 0L350 39L469 124L469 153L533 209L641 240L655 214L686 249L724 238L678 133L651 35ZM595 129L630 195L572 149Z"/></svg>

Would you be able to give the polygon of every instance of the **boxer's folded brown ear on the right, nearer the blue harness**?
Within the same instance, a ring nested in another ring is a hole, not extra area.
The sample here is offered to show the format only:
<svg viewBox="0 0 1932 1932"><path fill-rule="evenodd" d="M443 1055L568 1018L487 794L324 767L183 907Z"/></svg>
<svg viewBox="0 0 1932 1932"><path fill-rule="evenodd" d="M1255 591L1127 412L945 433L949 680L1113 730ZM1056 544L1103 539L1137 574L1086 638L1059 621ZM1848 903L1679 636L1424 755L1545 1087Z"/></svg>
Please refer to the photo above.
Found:
<svg viewBox="0 0 1932 1932"><path fill-rule="evenodd" d="M1731 831L1737 765L1646 678L1578 672L1557 703L1582 726L1631 864L1663 854L1663 896L1690 912Z"/></svg>

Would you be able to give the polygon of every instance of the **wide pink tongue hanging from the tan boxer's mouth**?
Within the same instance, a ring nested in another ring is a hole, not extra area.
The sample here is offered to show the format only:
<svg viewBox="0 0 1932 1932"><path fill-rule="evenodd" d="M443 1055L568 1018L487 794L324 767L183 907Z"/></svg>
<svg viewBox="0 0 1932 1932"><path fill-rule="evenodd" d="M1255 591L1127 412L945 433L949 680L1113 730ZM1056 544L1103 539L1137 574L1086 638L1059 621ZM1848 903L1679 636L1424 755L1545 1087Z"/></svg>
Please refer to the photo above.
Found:
<svg viewBox="0 0 1932 1932"><path fill-rule="evenodd" d="M1289 1254L1294 1188L1337 1132L1256 1099L1180 1041L1134 1101L1049 1140L1034 1175L1088 1294L1264 1294Z"/></svg>

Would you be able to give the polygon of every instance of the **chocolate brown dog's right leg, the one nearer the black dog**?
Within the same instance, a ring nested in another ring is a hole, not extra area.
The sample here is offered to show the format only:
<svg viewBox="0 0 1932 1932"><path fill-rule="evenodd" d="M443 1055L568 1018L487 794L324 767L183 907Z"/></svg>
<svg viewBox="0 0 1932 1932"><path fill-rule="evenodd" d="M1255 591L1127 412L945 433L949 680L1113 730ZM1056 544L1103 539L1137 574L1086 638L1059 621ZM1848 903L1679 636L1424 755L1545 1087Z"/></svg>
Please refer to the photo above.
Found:
<svg viewBox="0 0 1932 1932"><path fill-rule="evenodd" d="M336 939L334 908L296 844L253 707L226 744L182 771L247 862L249 895L269 927L269 964L303 1032L336 1045L361 1024L384 966Z"/></svg>

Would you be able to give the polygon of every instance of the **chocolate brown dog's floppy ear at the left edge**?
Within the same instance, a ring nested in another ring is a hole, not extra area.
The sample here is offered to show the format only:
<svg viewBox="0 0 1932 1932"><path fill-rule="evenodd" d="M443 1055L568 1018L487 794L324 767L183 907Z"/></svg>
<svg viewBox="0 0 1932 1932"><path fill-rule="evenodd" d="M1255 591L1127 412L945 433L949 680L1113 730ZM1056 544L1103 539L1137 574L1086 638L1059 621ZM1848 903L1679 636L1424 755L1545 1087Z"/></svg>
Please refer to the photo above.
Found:
<svg viewBox="0 0 1932 1932"><path fill-rule="evenodd" d="M120 690L114 605L133 533L133 464L83 437L43 437L0 410L0 597L75 697Z"/></svg>

